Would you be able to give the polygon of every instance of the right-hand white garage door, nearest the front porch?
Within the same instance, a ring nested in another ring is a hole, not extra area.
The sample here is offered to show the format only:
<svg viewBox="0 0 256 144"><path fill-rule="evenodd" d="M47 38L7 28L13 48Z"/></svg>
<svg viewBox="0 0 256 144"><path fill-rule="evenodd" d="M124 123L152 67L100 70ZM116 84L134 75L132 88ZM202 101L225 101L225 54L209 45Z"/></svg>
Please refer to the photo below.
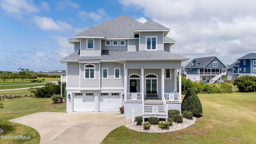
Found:
<svg viewBox="0 0 256 144"><path fill-rule="evenodd" d="M100 112L120 111L120 96L100 96Z"/></svg>

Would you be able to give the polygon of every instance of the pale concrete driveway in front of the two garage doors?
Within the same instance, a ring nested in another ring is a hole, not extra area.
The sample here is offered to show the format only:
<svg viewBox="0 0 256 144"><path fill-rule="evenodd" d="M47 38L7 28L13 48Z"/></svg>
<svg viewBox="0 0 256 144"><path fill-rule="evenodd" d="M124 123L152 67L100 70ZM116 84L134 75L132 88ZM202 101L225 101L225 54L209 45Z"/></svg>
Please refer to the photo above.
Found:
<svg viewBox="0 0 256 144"><path fill-rule="evenodd" d="M100 144L109 132L130 124L120 112L39 112L10 120L38 131L40 144Z"/></svg>

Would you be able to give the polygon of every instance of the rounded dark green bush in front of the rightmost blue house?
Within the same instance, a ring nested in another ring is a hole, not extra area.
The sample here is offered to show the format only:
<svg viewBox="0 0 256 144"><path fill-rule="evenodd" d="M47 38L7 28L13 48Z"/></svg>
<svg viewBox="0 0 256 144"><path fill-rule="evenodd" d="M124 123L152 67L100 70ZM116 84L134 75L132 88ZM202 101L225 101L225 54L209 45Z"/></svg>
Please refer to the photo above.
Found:
<svg viewBox="0 0 256 144"><path fill-rule="evenodd" d="M254 76L240 76L233 82L234 86L237 86L240 92L255 92L256 89L256 77Z"/></svg>

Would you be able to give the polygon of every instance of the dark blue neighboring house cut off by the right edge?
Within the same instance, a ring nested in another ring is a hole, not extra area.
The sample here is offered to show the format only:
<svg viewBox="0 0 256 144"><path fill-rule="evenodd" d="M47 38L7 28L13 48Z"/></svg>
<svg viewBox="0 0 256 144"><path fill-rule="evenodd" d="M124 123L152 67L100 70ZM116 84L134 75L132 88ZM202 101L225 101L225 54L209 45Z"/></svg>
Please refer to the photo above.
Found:
<svg viewBox="0 0 256 144"><path fill-rule="evenodd" d="M228 74L228 80L234 80L240 76L256 76L256 53L246 54L236 59L236 62L228 66L232 73Z"/></svg>

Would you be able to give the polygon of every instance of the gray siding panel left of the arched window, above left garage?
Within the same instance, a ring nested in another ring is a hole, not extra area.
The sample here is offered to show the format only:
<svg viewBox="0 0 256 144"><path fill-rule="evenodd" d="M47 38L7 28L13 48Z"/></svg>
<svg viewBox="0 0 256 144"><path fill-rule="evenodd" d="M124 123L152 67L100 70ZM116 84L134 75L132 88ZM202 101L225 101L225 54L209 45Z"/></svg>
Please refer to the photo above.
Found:
<svg viewBox="0 0 256 144"><path fill-rule="evenodd" d="M67 63L67 88L79 88L79 64L78 62Z"/></svg>

